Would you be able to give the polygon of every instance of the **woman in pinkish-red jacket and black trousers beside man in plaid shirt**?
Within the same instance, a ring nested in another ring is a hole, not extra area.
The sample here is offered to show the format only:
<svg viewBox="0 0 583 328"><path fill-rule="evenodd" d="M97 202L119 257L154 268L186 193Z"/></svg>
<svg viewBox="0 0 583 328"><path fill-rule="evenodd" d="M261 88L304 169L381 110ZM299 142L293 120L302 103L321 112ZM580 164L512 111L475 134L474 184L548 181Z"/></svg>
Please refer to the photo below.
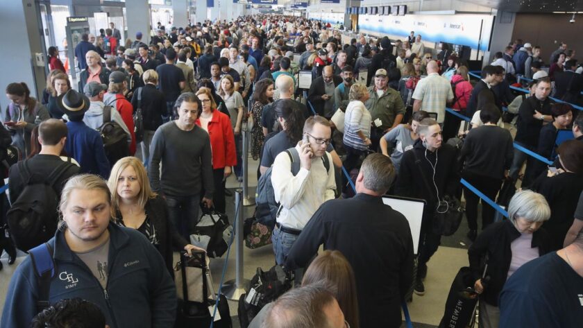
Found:
<svg viewBox="0 0 583 328"><path fill-rule="evenodd" d="M455 112L465 115L466 107L468 107L468 102L470 101L473 89L469 82L467 67L457 67L455 74L451 78L451 85L454 92L451 108L455 110ZM462 119L446 112L446 119L443 121L443 141L447 141L449 138L457 136L459 123L462 123Z"/></svg>

